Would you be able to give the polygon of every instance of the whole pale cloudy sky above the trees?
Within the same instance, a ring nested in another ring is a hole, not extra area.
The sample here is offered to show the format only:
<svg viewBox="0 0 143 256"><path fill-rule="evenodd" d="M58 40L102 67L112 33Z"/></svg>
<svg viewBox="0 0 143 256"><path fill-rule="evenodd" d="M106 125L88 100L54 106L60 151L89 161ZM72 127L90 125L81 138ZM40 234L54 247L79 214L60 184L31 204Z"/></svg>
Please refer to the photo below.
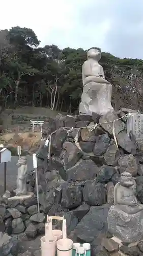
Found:
<svg viewBox="0 0 143 256"><path fill-rule="evenodd" d="M33 29L41 46L143 59L143 0L5 0L0 29L13 26Z"/></svg>

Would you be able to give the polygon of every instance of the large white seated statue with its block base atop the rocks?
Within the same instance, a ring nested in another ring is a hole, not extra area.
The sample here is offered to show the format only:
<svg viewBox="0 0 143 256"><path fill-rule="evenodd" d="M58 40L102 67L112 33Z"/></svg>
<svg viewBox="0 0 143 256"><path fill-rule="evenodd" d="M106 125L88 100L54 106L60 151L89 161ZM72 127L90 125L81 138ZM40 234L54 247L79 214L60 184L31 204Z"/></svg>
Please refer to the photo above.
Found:
<svg viewBox="0 0 143 256"><path fill-rule="evenodd" d="M104 71L98 61L101 59L99 48L88 50L88 60L82 66L83 92L79 104L79 114L92 116L92 112L105 115L113 110L111 106L112 86L105 80Z"/></svg>

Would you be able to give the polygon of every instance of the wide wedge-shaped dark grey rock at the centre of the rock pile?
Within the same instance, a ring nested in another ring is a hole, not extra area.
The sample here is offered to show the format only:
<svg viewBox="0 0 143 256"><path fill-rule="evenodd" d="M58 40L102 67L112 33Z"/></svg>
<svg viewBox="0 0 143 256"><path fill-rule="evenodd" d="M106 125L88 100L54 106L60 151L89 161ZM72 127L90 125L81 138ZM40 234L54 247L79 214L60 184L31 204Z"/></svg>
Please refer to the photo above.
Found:
<svg viewBox="0 0 143 256"><path fill-rule="evenodd" d="M79 160L75 166L67 170L67 179L84 181L94 179L99 172L99 167L92 160Z"/></svg>

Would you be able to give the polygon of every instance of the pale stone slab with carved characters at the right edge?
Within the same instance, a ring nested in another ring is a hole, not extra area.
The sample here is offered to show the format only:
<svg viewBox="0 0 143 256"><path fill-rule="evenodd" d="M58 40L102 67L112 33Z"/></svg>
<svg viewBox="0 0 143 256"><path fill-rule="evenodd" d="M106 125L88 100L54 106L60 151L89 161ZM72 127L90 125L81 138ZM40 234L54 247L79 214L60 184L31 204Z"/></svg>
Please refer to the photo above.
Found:
<svg viewBox="0 0 143 256"><path fill-rule="evenodd" d="M131 114L127 121L128 134L132 131L136 140L143 139L143 114Z"/></svg>

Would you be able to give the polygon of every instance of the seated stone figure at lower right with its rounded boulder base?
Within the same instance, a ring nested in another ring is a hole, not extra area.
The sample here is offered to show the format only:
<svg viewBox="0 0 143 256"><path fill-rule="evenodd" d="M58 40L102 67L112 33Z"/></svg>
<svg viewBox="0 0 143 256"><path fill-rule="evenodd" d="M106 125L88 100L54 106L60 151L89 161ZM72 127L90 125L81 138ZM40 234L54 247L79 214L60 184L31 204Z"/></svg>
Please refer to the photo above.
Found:
<svg viewBox="0 0 143 256"><path fill-rule="evenodd" d="M136 197L136 182L124 172L114 188L114 205L108 212L108 230L123 242L131 243L143 238L143 205Z"/></svg>

